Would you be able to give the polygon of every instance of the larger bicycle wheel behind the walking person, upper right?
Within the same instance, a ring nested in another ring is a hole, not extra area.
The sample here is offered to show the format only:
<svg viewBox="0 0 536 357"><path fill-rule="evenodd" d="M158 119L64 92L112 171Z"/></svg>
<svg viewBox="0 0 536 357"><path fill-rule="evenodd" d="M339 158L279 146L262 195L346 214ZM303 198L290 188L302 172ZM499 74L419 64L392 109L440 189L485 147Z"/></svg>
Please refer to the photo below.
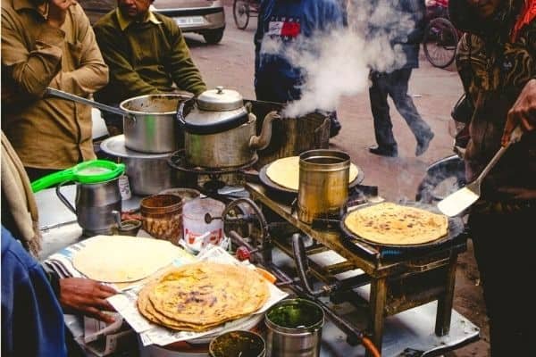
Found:
<svg viewBox="0 0 536 357"><path fill-rule="evenodd" d="M445 68L454 61L457 42L457 32L450 21L433 19L424 30L424 55L434 67Z"/></svg>

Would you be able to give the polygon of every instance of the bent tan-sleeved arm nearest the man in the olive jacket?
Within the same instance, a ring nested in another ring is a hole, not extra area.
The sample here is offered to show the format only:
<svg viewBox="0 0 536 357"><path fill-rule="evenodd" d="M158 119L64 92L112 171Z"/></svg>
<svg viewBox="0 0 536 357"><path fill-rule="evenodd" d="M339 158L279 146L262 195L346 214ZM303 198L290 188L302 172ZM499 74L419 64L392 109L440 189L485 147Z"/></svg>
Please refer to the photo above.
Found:
<svg viewBox="0 0 536 357"><path fill-rule="evenodd" d="M78 29L77 43L69 45L71 52L80 56L80 64L74 71L60 71L50 87L61 89L75 95L87 96L108 83L108 66L96 44L95 34L89 24L88 16L79 4L71 7L74 26Z"/></svg>

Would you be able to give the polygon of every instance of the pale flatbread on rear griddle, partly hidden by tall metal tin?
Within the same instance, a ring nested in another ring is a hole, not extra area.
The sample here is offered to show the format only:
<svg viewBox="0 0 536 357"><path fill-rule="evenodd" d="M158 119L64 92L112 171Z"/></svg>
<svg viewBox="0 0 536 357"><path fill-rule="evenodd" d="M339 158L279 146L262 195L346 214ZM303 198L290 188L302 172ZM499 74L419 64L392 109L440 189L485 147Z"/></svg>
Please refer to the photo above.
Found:
<svg viewBox="0 0 536 357"><path fill-rule="evenodd" d="M348 183L357 178L357 166L350 162ZM272 162L266 169L272 182L297 191L299 187L299 156L289 156Z"/></svg>

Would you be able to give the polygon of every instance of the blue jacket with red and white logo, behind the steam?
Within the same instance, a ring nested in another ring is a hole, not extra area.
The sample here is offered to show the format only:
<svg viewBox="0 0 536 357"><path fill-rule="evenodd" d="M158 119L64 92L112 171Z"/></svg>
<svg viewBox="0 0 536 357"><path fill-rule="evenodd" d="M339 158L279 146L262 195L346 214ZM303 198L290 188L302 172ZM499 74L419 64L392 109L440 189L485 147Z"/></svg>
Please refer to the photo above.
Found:
<svg viewBox="0 0 536 357"><path fill-rule="evenodd" d="M264 0L254 40L256 98L279 103L299 99L304 73L285 57L285 48L296 46L302 37L313 37L317 30L341 28L343 23L339 0ZM264 53L264 37L281 40L281 52Z"/></svg>

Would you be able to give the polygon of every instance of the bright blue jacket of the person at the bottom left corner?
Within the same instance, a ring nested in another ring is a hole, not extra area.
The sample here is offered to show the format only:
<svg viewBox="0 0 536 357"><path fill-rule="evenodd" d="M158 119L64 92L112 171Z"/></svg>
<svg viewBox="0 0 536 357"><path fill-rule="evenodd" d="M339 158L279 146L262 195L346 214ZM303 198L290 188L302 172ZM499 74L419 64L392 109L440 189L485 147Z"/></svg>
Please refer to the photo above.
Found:
<svg viewBox="0 0 536 357"><path fill-rule="evenodd" d="M4 226L2 355L67 355L62 308L45 272Z"/></svg>

